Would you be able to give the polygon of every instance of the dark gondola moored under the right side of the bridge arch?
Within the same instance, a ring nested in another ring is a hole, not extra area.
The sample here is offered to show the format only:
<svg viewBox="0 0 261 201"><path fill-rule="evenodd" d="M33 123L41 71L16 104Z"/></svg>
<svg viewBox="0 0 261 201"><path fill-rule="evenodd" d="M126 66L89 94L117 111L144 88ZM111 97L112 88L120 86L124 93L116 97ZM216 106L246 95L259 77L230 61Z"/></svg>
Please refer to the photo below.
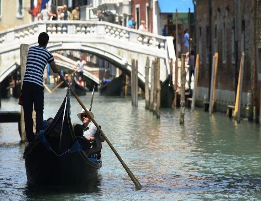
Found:
<svg viewBox="0 0 261 201"><path fill-rule="evenodd" d="M110 82L101 85L99 89L100 95L120 96L122 87L124 86L124 78L124 73L121 73L121 75L118 78L114 78Z"/></svg>

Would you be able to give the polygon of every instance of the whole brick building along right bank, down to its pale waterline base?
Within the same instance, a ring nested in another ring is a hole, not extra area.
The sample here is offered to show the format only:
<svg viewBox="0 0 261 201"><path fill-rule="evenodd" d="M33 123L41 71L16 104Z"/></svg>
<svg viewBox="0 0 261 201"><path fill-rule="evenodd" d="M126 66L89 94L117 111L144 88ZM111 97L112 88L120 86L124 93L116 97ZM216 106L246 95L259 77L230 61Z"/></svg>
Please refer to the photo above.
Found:
<svg viewBox="0 0 261 201"><path fill-rule="evenodd" d="M236 6L237 13L235 13ZM211 59L215 52L218 52L219 54L215 96L217 111L225 112L227 105L235 104L239 64L242 52L244 51L245 65L241 113L243 117L248 117L249 119L253 117L253 113L258 116L260 102L258 73L261 72L261 49L258 49L258 47L260 46L261 23L259 19L261 19L261 16L257 16L256 28L254 28L254 12L256 9L257 13L260 13L260 8L261 1L257 0L211 1L212 12L211 21L209 23L209 0L197 1L196 50L197 53L200 54L198 104L202 102L205 95L208 97L209 93L210 65L208 56L211 41ZM209 29L209 26L211 29ZM211 37L209 31L211 32ZM236 31L238 37L238 51L234 42ZM254 37L256 38L255 41ZM255 46L254 43L256 43ZM254 52L256 53L256 58L254 58ZM254 115L254 118L257 116Z"/></svg>

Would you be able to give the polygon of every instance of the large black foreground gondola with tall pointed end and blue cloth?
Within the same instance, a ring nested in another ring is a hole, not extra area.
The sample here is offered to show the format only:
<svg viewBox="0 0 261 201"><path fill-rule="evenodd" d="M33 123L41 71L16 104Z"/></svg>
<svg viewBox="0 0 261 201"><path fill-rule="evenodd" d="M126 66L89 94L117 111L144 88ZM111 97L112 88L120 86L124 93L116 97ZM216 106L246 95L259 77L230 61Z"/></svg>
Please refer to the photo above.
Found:
<svg viewBox="0 0 261 201"><path fill-rule="evenodd" d="M98 130L95 133L95 139L100 150ZM67 92L51 124L44 131L40 131L35 140L30 142L24 150L23 158L28 183L46 186L77 186L93 182L98 177L102 161L89 158L84 154L84 146L88 144L85 140L84 137L76 136L73 132Z"/></svg>

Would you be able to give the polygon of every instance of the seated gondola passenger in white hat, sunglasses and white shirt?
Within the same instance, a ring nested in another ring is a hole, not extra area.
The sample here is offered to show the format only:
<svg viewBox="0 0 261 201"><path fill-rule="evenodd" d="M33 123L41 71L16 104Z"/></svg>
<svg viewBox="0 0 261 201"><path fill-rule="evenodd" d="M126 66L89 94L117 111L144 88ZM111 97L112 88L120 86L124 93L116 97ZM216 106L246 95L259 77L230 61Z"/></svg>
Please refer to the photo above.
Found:
<svg viewBox="0 0 261 201"><path fill-rule="evenodd" d="M87 109L87 111L88 111L88 109ZM94 118L93 112L92 111L88 111L88 112L91 115L91 117ZM89 155L89 153L92 153L94 151L94 149L96 149L97 146L99 146L99 142L97 142L97 140L99 140L100 142L104 142L104 138L99 133L99 139L95 139L95 134L96 134L96 132L99 132L99 131L97 131L98 129L96 128L95 124L89 119L88 115L86 114L86 112L83 109L80 113L77 114L77 116L83 122L83 125L81 125L83 132L76 131L77 133L75 133L75 135L83 135L88 140L88 142L90 143L89 148L93 149L93 150L87 149L87 151L85 153L87 155ZM75 128L78 128L78 127L76 125ZM75 130L76 129L74 129L74 131ZM97 159L99 159L100 158L99 149L96 154L97 154Z"/></svg>

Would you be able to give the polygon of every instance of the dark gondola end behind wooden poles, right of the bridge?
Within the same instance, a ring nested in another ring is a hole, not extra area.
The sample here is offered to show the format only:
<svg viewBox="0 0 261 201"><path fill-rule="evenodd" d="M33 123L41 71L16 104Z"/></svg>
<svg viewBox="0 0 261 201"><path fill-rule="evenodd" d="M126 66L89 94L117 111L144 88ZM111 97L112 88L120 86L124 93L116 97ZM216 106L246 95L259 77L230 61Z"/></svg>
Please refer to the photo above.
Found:
<svg viewBox="0 0 261 201"><path fill-rule="evenodd" d="M160 107L172 107L174 99L174 87L172 81L172 72L168 75L167 79L161 84L160 92Z"/></svg>

